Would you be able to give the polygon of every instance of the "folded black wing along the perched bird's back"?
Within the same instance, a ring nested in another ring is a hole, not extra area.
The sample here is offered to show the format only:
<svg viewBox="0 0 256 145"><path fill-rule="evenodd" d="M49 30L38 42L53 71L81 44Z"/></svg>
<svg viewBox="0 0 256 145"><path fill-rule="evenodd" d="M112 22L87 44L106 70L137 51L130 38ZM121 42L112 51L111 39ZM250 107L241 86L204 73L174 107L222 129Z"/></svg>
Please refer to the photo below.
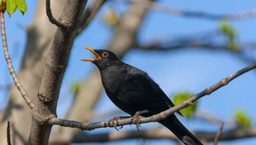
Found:
<svg viewBox="0 0 256 145"><path fill-rule="evenodd" d="M149 84L150 86L147 88L157 91L156 93L154 93L154 94L158 95L157 97L160 97L160 99L162 101L164 101L169 107L174 107L174 104L172 103L170 98L168 96L166 96L166 93L160 89L160 86L158 84L156 84L154 82L154 80L148 76L147 73L145 73L139 69L136 69L134 67L131 68L131 70L129 72L132 74L132 75L128 75L128 76L130 76L128 78L128 80L130 80L130 82L131 81L137 82L140 85L144 85L144 86L148 86L148 84ZM183 116L183 114L180 113L180 111L177 111L177 113L179 115Z"/></svg>

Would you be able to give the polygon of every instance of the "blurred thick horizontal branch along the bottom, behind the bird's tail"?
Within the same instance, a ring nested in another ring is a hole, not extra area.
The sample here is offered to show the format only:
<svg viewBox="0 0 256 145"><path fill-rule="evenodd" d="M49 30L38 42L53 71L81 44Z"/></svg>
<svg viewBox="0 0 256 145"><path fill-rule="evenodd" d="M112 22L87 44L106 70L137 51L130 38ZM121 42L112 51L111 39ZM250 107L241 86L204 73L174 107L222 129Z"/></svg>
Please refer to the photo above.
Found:
<svg viewBox="0 0 256 145"><path fill-rule="evenodd" d="M216 131L191 131L196 137L205 142L213 142L216 136ZM252 128L236 128L230 131L223 131L219 136L218 141L232 141L236 139L243 139L256 136L256 127ZM155 127L142 131L110 131L106 133L86 134L84 132L78 133L71 141L53 140L49 144L69 144L69 143L83 143L83 142L116 142L131 139L170 139L178 141L177 136L173 135L171 131L166 128Z"/></svg>

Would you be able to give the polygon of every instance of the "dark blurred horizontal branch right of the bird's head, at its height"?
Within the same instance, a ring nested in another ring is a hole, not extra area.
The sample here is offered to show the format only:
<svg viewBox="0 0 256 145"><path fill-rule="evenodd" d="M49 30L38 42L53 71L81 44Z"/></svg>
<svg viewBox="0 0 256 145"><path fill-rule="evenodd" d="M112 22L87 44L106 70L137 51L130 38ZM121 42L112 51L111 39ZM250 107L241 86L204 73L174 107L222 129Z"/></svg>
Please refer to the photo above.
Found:
<svg viewBox="0 0 256 145"><path fill-rule="evenodd" d="M209 39L209 35L211 32L207 33L207 39ZM214 33L212 33L214 34ZM142 49L142 50L153 50L153 51L171 51L177 49L211 49L211 50L224 50L232 55L236 55L241 61L246 63L252 63L255 61L254 58L249 57L248 55L244 55L243 51L247 48L255 48L255 43L241 43L237 44L237 50L230 50L228 44L217 44L214 42L209 41L201 41L202 38L176 38L176 39L169 39L169 40L152 40L148 44L135 44L135 49Z"/></svg>

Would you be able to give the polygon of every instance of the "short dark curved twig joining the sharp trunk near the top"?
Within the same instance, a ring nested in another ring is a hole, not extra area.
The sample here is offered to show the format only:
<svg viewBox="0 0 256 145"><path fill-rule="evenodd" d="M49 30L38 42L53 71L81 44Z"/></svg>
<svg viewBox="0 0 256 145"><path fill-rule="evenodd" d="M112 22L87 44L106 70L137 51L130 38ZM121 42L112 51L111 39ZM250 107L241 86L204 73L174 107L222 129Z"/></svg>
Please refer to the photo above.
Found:
<svg viewBox="0 0 256 145"><path fill-rule="evenodd" d="M62 23L61 21L56 20L55 17L52 15L51 9L50 9L50 0L45 1L45 8L46 8L46 14L49 18L49 21L52 24L55 24L55 26L58 26L58 27L61 27L61 28L67 28L68 27L64 23Z"/></svg>

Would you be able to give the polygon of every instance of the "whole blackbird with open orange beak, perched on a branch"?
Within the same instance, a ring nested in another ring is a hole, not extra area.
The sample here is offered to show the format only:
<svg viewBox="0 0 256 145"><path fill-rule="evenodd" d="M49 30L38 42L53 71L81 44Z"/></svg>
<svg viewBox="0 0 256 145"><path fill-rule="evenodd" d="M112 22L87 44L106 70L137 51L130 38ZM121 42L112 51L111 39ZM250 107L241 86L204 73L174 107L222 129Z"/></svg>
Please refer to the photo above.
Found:
<svg viewBox="0 0 256 145"><path fill-rule="evenodd" d="M125 113L148 117L174 107L172 101L147 73L119 61L113 52L106 49L84 48L89 49L96 58L81 61L91 61L99 68L109 99ZM175 114L158 122L172 131L184 144L202 145Z"/></svg>

